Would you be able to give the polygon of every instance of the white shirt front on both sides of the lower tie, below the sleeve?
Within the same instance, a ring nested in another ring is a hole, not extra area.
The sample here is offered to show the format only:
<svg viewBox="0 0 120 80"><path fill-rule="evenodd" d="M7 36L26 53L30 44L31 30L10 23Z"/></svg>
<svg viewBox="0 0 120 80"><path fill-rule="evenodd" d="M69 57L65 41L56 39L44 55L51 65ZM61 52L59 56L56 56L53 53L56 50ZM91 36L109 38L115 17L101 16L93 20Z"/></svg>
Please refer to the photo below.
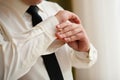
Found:
<svg viewBox="0 0 120 80"><path fill-rule="evenodd" d="M57 57L58 63L60 64L59 66L63 73L64 79L68 80L68 76L69 76L69 80L72 80L70 60L68 58L68 55L63 52L65 52L65 51L61 51L61 49L56 51L55 52L56 57ZM45 66L44 66L44 63L43 63L43 60L41 57L39 57L36 64L20 80L26 80L26 79L27 80L39 80L39 79L40 80L49 80L48 73L45 69Z"/></svg>

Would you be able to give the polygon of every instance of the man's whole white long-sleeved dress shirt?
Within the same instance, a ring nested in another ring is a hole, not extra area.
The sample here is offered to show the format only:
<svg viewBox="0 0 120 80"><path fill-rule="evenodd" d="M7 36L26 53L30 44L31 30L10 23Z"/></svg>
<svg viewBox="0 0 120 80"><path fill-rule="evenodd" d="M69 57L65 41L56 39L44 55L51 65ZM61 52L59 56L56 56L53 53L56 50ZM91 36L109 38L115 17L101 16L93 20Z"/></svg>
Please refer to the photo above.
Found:
<svg viewBox="0 0 120 80"><path fill-rule="evenodd" d="M38 4L43 22L31 25L29 6L21 0L0 2L0 80L49 80L41 55L55 52L64 80L73 80L72 67L88 68L97 59L96 49L78 52L55 37L54 16L62 8L56 3Z"/></svg>

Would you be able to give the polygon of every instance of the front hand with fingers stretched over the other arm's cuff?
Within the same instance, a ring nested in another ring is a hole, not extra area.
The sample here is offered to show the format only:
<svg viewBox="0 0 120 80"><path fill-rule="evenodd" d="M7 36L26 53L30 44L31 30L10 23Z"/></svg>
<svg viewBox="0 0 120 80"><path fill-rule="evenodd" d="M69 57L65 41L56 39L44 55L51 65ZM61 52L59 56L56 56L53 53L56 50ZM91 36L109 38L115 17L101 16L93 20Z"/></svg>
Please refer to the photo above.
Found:
<svg viewBox="0 0 120 80"><path fill-rule="evenodd" d="M56 37L66 42L71 48L88 52L90 48L90 42L87 34L81 24L63 22L57 25Z"/></svg>

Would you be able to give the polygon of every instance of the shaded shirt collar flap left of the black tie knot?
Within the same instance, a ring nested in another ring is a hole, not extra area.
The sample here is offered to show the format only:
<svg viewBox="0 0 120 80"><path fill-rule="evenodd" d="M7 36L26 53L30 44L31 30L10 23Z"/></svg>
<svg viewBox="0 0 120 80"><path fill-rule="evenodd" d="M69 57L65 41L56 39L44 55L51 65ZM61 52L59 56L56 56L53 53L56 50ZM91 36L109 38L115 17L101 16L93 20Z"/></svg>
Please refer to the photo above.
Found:
<svg viewBox="0 0 120 80"><path fill-rule="evenodd" d="M29 8L29 5L26 5L22 0L4 0L3 4L15 9L20 15L24 15L26 10Z"/></svg>

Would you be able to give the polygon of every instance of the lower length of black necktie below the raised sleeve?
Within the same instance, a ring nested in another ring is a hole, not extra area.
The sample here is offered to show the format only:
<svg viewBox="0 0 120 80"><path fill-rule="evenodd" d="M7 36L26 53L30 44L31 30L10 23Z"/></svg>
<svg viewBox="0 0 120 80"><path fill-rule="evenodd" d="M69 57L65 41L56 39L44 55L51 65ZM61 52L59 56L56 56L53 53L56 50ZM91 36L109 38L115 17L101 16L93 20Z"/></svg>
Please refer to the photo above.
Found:
<svg viewBox="0 0 120 80"><path fill-rule="evenodd" d="M50 80L64 80L55 53L42 56Z"/></svg>

